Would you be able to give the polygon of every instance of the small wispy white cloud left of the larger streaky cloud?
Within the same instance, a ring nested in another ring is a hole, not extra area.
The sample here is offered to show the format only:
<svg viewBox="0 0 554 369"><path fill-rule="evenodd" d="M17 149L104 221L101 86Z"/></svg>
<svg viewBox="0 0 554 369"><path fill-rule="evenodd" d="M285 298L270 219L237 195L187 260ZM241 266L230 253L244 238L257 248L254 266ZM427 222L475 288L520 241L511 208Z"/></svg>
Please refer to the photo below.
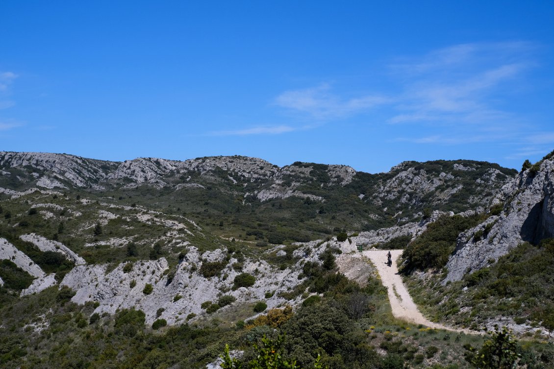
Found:
<svg viewBox="0 0 554 369"><path fill-rule="evenodd" d="M318 119L333 119L367 111L387 104L391 99L385 95L372 94L344 99L331 93L329 84L314 88L285 91L275 98L275 105L307 113Z"/></svg>

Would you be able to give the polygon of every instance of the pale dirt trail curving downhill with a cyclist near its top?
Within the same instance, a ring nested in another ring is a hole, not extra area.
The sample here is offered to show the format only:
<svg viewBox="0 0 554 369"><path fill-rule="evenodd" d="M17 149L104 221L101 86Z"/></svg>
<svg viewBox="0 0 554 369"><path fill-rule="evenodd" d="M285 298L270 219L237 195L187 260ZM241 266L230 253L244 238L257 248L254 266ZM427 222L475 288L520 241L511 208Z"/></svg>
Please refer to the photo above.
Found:
<svg viewBox="0 0 554 369"><path fill-rule="evenodd" d="M389 250L369 250L364 251L363 255L369 258L376 266L383 285L388 289L388 299L391 302L392 315L394 315L394 317L436 329L464 332L468 334L476 333L468 329L454 329L425 319L421 312L419 312L416 304L414 304L406 286L402 283L401 276L398 274L396 260L402 254L402 250L390 251L392 254L391 266L387 265L387 253Z"/></svg>

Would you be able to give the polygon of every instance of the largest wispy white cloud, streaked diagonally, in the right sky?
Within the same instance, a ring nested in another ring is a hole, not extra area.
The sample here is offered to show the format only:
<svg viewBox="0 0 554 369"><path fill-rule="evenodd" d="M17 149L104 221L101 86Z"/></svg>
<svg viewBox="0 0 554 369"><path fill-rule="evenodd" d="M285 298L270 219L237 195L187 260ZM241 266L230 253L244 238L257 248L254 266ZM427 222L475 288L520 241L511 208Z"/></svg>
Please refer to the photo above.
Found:
<svg viewBox="0 0 554 369"><path fill-rule="evenodd" d="M497 107L497 96L535 65L534 47L525 42L463 44L392 64L403 92L395 106L398 114L388 122L505 124L511 114Z"/></svg>

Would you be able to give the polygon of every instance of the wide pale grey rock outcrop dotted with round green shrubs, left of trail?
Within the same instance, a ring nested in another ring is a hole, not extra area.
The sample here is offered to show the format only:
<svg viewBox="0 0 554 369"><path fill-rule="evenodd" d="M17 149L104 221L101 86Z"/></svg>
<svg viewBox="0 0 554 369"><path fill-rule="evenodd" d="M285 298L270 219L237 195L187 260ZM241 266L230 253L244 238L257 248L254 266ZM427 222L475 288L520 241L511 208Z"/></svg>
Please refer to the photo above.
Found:
<svg viewBox="0 0 554 369"><path fill-rule="evenodd" d="M233 295L234 304L265 300L268 307L275 307L287 300L278 296L280 291L288 291L302 282L298 279L301 268L279 270L264 260L246 260L241 271L232 268L237 259L231 258L223 271L211 278L204 278L198 271L202 260L206 262L223 260L225 250L215 250L203 255L192 246L183 261L172 270L168 269L166 259L135 262L131 270L124 270L125 263L114 270L107 271L106 265L80 265L66 274L61 285L76 291L73 301L84 304L98 301L96 312L115 314L117 309L135 307L145 312L149 324L157 319L156 312L163 308L162 317L168 324L184 321L193 312L202 315L204 301L217 303L219 295ZM168 280L168 274L173 274ZM235 276L249 273L255 276L252 287L232 290ZM145 294L146 284L152 285L152 292ZM270 299L265 293L275 291Z"/></svg>

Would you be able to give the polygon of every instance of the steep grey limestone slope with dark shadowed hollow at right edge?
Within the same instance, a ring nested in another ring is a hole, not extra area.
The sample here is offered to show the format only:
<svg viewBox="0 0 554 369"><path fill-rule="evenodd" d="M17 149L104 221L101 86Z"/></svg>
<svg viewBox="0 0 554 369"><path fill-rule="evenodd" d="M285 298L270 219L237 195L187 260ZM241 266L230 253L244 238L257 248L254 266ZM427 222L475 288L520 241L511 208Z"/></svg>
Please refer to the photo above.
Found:
<svg viewBox="0 0 554 369"><path fill-rule="evenodd" d="M522 171L502 187L497 200L502 211L459 235L444 283L494 263L521 242L554 237L553 171L554 159L547 158L536 172Z"/></svg>

